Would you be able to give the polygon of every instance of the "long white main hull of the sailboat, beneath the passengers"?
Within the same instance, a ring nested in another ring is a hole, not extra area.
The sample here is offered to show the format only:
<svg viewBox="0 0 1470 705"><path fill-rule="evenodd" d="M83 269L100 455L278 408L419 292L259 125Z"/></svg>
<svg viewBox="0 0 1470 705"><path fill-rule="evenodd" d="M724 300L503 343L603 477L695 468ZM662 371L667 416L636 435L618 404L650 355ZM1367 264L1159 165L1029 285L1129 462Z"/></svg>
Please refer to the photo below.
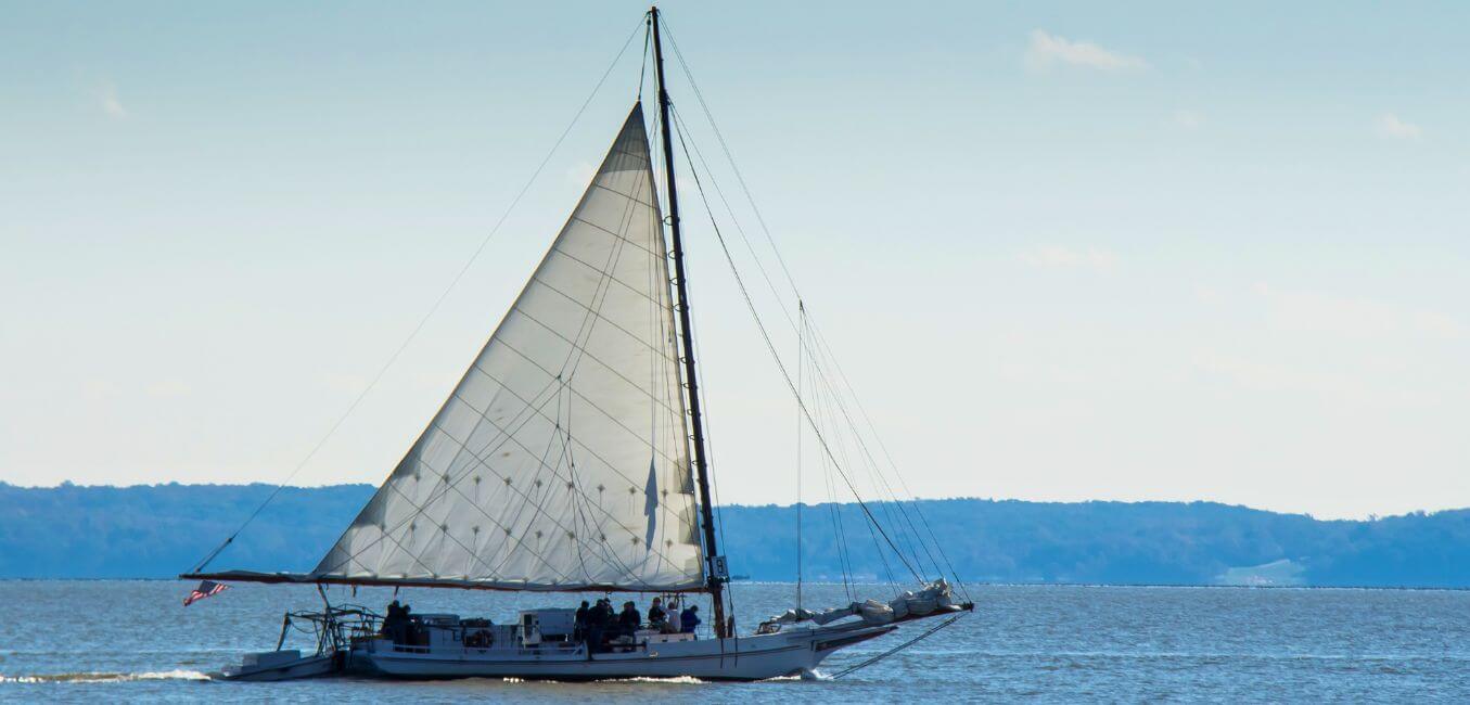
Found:
<svg viewBox="0 0 1470 705"><path fill-rule="evenodd" d="M598 680L679 677L763 680L813 670L833 651L892 632L851 624L791 629L775 634L638 643L626 652L566 648L423 648L372 639L353 646L348 670L397 679L516 677Z"/></svg>

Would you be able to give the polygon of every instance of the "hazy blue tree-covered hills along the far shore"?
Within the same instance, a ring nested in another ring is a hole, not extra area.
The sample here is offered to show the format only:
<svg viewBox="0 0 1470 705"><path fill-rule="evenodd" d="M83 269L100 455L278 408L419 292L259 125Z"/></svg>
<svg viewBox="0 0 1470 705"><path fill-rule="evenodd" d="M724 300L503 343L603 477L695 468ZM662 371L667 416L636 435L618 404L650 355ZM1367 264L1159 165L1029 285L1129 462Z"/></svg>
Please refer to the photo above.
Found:
<svg viewBox="0 0 1470 705"><path fill-rule="evenodd" d="M172 577L272 489L0 483L0 577ZM213 567L310 570L372 491L287 488ZM941 536L945 555L933 561L966 580L1470 588L1470 510L1319 521L1214 502L923 499L870 508L900 545L914 532ZM795 576L794 508L725 507L720 516L732 573ZM804 536L808 579L841 579L844 557L860 577L907 574L892 555L885 565L873 548L882 538L856 505L807 505ZM931 557L920 563L933 573Z"/></svg>

